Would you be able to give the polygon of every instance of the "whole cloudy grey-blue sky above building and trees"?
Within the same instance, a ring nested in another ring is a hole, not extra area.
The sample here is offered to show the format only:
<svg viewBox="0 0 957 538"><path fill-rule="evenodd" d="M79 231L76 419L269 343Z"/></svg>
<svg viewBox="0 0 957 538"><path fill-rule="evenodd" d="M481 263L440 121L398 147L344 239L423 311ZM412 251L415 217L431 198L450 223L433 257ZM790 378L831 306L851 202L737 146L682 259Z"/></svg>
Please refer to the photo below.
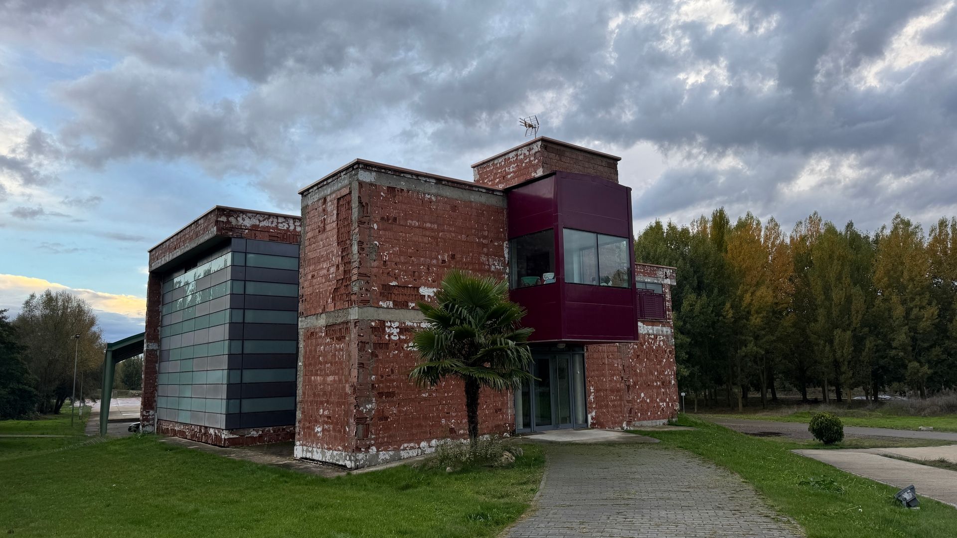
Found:
<svg viewBox="0 0 957 538"><path fill-rule="evenodd" d="M471 179L530 114L623 157L636 227L957 213L953 0L565 6L0 0L0 308L72 289L121 338L212 205L298 212L355 157Z"/></svg>

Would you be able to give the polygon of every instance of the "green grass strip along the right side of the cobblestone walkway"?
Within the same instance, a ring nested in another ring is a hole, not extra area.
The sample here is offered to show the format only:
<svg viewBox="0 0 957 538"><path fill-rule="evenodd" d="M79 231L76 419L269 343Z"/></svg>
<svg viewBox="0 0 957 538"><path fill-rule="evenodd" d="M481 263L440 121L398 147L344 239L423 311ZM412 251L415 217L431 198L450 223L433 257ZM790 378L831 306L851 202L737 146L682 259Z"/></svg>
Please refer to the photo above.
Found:
<svg viewBox="0 0 957 538"><path fill-rule="evenodd" d="M894 501L896 488L798 456L784 442L684 415L678 423L698 429L639 433L741 475L809 538L952 538L957 529L957 509L926 498L920 510L901 508Z"/></svg>

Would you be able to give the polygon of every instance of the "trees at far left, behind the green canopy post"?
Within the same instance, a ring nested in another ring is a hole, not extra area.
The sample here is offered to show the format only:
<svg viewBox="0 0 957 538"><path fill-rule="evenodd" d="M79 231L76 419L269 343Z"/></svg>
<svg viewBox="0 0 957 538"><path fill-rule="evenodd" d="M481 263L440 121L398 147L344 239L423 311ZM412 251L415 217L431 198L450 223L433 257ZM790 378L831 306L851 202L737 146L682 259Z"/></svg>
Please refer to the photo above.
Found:
<svg viewBox="0 0 957 538"><path fill-rule="evenodd" d="M104 348L93 309L66 291L31 294L12 320L0 310L0 418L59 413L73 394L75 358L77 400L99 396ZM142 358L123 361L118 385L138 390L142 372Z"/></svg>

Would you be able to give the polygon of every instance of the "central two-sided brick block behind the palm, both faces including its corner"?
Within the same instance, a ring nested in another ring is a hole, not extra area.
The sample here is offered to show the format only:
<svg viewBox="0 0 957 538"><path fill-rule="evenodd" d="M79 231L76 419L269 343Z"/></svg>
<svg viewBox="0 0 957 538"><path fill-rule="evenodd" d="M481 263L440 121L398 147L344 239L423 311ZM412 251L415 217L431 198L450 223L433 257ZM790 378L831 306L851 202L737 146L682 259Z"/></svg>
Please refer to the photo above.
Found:
<svg viewBox="0 0 957 538"><path fill-rule="evenodd" d="M504 278L501 192L356 162L302 195L300 278L329 277L300 288L297 457L360 467L467 437L460 383L409 380L415 303L451 267ZM481 399L482 432L511 430L510 396Z"/></svg>

